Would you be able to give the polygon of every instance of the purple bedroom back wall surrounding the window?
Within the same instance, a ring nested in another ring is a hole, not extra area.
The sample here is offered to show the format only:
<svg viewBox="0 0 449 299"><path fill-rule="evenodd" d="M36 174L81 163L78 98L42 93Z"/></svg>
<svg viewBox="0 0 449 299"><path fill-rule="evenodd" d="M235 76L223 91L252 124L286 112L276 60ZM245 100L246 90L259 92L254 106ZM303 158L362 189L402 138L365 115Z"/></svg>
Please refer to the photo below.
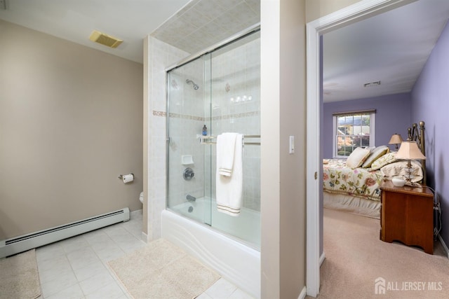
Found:
<svg viewBox="0 0 449 299"><path fill-rule="evenodd" d="M323 155L332 158L333 115L335 112L376 109L375 142L376 146L388 145L391 135L401 134L407 138L407 128L412 125L410 118L410 94L384 95L367 99L354 99L323 105ZM417 123L419 120L414 120ZM393 148L393 146L390 146Z"/></svg>

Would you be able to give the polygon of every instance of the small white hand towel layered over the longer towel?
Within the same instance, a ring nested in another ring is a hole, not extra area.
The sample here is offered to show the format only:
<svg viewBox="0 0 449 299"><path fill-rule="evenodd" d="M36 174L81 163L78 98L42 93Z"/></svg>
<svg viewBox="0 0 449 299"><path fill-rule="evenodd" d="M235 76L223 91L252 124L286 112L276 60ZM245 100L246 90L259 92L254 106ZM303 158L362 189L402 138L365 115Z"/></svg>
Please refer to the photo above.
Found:
<svg viewBox="0 0 449 299"><path fill-rule="evenodd" d="M223 133L217 136L217 169L222 176L232 176L237 133Z"/></svg>

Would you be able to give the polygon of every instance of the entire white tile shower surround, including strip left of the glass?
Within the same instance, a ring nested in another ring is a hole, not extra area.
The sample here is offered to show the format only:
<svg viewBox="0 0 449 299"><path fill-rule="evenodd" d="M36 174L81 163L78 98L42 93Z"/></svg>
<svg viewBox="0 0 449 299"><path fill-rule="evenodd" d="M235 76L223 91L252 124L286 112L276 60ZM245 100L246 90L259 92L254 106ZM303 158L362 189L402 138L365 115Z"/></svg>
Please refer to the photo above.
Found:
<svg viewBox="0 0 449 299"><path fill-rule="evenodd" d="M187 55L158 39L148 37L148 239L160 237L161 211L166 206L165 70ZM212 56L211 64L199 59L180 67L168 82L173 97L170 101L171 140L168 148L170 195L173 195L169 200L173 205L185 202L187 194L195 197L215 195L215 145L201 145L196 138L197 134L201 134L204 124L208 127L208 134L215 136L222 132L260 135L258 34L248 43L238 42L232 47L216 51ZM186 79L198 84L199 90L187 85ZM194 165L182 165L182 155L192 155ZM182 179L185 167L194 169L195 179L192 181ZM243 207L260 211L260 146L244 146L243 176Z"/></svg>

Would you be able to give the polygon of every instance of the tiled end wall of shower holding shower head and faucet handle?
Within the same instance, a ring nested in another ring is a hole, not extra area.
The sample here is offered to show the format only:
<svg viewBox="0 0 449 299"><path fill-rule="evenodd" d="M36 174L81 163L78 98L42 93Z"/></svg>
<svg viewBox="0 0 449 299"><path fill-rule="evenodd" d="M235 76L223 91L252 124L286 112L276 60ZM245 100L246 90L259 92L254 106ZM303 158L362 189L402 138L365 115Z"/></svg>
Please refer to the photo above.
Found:
<svg viewBox="0 0 449 299"><path fill-rule="evenodd" d="M194 89L186 81L194 81ZM203 84L203 60L201 58L173 69L168 75L170 122L168 132L168 204L174 207L186 201L187 195L203 197L204 194L204 147L199 144L197 134L204 125L203 101L206 87ZM193 163L185 163L183 156L191 155ZM185 180L182 176L189 167L194 178Z"/></svg>

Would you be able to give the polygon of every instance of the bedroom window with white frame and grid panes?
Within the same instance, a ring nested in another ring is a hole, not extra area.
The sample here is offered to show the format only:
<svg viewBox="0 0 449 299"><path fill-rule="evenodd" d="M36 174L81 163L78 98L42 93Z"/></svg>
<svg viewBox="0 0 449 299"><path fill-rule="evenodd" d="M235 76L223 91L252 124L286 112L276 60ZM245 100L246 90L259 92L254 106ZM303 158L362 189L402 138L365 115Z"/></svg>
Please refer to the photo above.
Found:
<svg viewBox="0 0 449 299"><path fill-rule="evenodd" d="M375 146L375 110L333 114L333 155L348 157L354 148Z"/></svg>

